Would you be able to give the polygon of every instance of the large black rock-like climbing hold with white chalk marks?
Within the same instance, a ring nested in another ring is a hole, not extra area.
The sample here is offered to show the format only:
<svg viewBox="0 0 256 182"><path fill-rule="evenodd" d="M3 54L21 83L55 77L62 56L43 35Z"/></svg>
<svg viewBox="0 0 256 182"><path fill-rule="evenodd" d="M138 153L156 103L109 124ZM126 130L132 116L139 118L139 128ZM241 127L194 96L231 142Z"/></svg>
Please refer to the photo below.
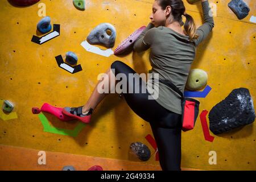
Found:
<svg viewBox="0 0 256 182"><path fill-rule="evenodd" d="M214 134L224 133L237 127L248 125L255 120L255 110L250 92L238 88L215 105L209 112L210 131Z"/></svg>

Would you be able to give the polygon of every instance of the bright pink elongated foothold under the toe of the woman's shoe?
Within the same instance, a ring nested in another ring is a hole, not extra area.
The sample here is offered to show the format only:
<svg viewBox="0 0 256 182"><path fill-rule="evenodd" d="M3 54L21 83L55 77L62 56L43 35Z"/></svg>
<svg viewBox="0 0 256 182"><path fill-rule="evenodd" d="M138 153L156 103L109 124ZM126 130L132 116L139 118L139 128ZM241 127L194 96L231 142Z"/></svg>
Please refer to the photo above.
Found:
<svg viewBox="0 0 256 182"><path fill-rule="evenodd" d="M60 107L54 107L47 103L44 103L41 107L41 111L55 115L57 118L59 118L61 121L71 121L74 120L72 117L68 117L67 115L64 115L61 111L63 108Z"/></svg>

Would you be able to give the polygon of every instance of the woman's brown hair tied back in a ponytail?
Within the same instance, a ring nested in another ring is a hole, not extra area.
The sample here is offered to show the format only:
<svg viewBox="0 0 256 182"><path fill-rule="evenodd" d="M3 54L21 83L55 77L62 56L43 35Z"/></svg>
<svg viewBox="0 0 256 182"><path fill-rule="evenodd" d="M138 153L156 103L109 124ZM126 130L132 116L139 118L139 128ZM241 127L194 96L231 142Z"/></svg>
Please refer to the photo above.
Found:
<svg viewBox="0 0 256 182"><path fill-rule="evenodd" d="M196 39L199 35L196 34L196 24L191 15L185 13L185 6L182 0L155 0L165 10L167 6L171 6L171 14L174 20L177 20L181 26L183 26L183 21L181 15L186 17L184 24L185 34L189 36L189 39Z"/></svg>

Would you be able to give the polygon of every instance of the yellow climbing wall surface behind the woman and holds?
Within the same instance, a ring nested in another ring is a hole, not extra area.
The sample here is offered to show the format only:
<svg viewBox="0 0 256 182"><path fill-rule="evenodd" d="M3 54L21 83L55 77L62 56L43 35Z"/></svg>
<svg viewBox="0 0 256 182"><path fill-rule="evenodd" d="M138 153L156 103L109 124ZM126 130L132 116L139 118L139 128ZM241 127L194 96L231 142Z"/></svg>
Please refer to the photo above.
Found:
<svg viewBox="0 0 256 182"><path fill-rule="evenodd" d="M14 102L18 118L0 119L0 144L36 150L65 152L102 158L131 160L129 146L142 142L152 156L143 163L159 164L154 148L144 138L151 134L150 125L139 118L118 94L111 94L94 111L92 122L77 137L44 132L38 115L32 107L44 102L53 106L80 106L85 104L97 84L97 76L104 73L115 60L130 65L138 73L150 69L145 53L109 57L87 52L81 42L100 23L111 23L117 30L116 48L137 28L147 25L154 0L86 0L85 11L79 11L72 1L41 0L52 24L60 24L60 36L42 45L31 42L37 35L36 24L39 3L29 7L14 7L0 1L0 99ZM215 26L207 40L197 48L192 68L208 73L212 88L205 98L199 98L201 111L212 109L235 88L247 88L255 101L255 24L249 21L255 15L254 1L245 0L250 7L246 18L238 20L229 9L229 1L212 1L217 7ZM201 4L189 5L186 12L193 16L196 26L203 23ZM38 34L38 36L41 36ZM101 47L101 46L98 46ZM101 47L103 48L103 47ZM113 49L114 49L113 48ZM71 74L57 66L55 56L73 51L79 57L82 71ZM255 105L255 102L254 102ZM72 130L78 122L62 122L45 114L52 127ZM208 118L208 115L207 115ZM208 119L207 119L208 121ZM209 121L208 121L209 125ZM204 139L200 119L195 129L182 135L182 167L199 169L256 169L255 123L240 130L213 135L213 142ZM217 164L210 165L209 151L216 151ZM11 155L11 154L6 154Z"/></svg>

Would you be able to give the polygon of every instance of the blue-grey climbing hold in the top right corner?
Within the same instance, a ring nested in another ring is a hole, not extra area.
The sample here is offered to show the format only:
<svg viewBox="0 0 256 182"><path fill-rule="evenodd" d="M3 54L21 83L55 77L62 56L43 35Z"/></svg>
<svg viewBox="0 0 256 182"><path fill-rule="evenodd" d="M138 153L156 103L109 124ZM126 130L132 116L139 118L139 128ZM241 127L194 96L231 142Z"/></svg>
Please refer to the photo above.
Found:
<svg viewBox="0 0 256 182"><path fill-rule="evenodd" d="M237 15L238 19L245 18L250 11L250 8L242 0L232 0L228 3L228 6Z"/></svg>

